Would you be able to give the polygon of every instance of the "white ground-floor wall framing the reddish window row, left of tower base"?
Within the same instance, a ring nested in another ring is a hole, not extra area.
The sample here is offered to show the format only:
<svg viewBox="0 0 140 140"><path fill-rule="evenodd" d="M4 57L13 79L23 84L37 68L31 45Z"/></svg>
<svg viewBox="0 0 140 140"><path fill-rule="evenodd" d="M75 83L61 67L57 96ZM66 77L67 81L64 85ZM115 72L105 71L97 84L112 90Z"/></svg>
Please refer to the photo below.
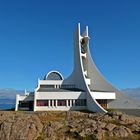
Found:
<svg viewBox="0 0 140 140"><path fill-rule="evenodd" d="M37 100L49 100L49 106L37 106ZM50 106L50 100L66 99L66 106ZM84 110L86 106L72 106L72 100L76 99L86 99L85 92L35 92L34 99L34 111L67 111L67 110ZM70 106L68 106L68 100L70 100Z"/></svg>

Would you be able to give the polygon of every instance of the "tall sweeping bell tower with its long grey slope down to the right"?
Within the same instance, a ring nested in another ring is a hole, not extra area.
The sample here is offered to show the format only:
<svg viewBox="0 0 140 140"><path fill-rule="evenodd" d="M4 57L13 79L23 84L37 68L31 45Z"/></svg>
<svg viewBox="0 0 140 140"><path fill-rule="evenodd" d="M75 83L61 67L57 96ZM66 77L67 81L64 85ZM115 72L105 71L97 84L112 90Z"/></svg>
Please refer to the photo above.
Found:
<svg viewBox="0 0 140 140"><path fill-rule="evenodd" d="M75 84L86 92L87 109L107 112L106 108L140 108L140 103L108 83L97 69L89 50L88 27L83 34L80 24L74 35L74 69L64 83Z"/></svg>

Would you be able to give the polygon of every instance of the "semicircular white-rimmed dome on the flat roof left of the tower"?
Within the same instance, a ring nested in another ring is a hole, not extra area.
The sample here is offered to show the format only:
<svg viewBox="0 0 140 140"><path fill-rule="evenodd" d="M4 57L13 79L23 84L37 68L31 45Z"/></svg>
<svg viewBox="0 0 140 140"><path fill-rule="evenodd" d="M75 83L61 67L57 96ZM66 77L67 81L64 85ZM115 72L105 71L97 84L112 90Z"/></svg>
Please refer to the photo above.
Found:
<svg viewBox="0 0 140 140"><path fill-rule="evenodd" d="M45 75L45 80L64 80L61 73L58 71L50 71L47 75Z"/></svg>

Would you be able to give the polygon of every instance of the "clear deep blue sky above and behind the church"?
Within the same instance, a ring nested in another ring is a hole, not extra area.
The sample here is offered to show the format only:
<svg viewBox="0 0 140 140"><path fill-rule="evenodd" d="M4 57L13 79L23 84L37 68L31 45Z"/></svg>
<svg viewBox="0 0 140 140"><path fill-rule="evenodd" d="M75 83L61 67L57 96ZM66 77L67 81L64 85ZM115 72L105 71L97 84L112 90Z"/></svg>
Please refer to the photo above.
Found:
<svg viewBox="0 0 140 140"><path fill-rule="evenodd" d="M140 87L139 0L0 1L0 88L33 90L50 70L73 68L73 33L89 26L90 50L117 88Z"/></svg>

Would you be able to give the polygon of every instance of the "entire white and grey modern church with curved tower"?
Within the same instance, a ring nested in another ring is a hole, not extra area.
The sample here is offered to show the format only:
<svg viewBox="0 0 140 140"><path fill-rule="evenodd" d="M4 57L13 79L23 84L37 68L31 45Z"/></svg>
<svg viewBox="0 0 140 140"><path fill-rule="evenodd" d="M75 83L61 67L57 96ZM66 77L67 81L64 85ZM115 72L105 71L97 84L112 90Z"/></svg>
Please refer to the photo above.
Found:
<svg viewBox="0 0 140 140"><path fill-rule="evenodd" d="M38 79L34 92L16 96L16 111L107 112L107 108L127 108L135 102L109 84L97 69L89 50L88 27L81 34L78 24L74 39L72 74L64 79L58 71L50 71L43 80Z"/></svg>

